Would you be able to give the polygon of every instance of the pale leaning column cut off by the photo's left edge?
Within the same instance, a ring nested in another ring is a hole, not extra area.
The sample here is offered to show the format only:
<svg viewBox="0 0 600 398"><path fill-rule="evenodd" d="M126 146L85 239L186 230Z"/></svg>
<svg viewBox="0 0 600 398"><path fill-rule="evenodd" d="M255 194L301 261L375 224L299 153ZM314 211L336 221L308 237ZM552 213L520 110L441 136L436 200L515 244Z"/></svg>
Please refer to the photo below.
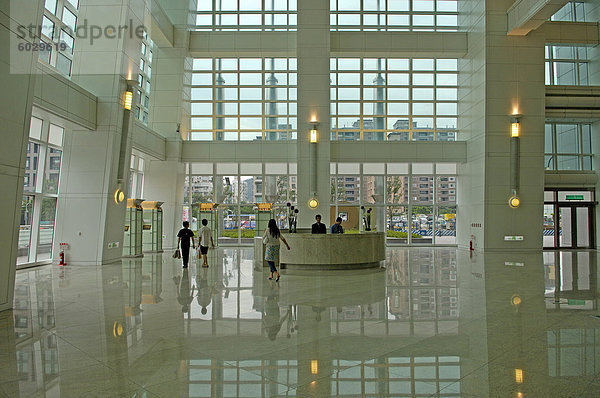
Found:
<svg viewBox="0 0 600 398"><path fill-rule="evenodd" d="M42 10L42 1L0 4L0 16L5 21L0 24L0 40L6 46L0 54L0 85L5 93L10 93L0 96L0 122L4 126L0 149L3 204L0 208L0 311L12 308L13 302L25 152L38 62L37 53L18 51L19 43L32 43L33 39L18 39L17 26L39 26Z"/></svg>

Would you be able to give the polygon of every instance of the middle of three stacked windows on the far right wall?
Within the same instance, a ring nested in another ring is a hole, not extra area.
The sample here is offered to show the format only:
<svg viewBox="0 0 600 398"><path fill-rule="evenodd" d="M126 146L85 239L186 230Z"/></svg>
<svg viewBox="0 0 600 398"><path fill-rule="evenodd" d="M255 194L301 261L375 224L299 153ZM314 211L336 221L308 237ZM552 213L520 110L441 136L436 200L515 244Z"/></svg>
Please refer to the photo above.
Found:
<svg viewBox="0 0 600 398"><path fill-rule="evenodd" d="M546 46L546 84L587 86L590 62L587 47Z"/></svg>

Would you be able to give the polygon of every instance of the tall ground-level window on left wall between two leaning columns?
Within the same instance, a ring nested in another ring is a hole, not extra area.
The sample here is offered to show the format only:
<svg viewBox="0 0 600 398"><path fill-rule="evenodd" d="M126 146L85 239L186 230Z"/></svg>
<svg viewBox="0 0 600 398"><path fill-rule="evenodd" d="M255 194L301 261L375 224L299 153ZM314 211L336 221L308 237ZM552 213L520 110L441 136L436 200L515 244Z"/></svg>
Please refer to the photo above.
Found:
<svg viewBox="0 0 600 398"><path fill-rule="evenodd" d="M52 259L64 129L31 118L17 265Z"/></svg>

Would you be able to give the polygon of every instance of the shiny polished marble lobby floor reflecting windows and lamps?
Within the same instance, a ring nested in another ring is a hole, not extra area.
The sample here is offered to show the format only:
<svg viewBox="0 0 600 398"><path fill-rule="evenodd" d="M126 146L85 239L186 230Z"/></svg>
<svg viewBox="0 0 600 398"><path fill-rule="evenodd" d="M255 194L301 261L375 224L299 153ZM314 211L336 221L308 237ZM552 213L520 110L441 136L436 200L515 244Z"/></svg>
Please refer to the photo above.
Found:
<svg viewBox="0 0 600 398"><path fill-rule="evenodd" d="M595 252L388 248L283 272L251 248L18 272L0 397L598 397Z"/></svg>

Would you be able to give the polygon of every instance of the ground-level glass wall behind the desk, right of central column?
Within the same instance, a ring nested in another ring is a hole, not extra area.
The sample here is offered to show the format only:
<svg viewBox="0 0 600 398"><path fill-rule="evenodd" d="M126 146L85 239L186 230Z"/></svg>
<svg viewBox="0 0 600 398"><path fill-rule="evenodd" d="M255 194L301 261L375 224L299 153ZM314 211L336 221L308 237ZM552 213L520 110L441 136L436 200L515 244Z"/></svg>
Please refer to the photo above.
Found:
<svg viewBox="0 0 600 398"><path fill-rule="evenodd" d="M391 244L456 244L455 163L332 163L331 215Z"/></svg>

